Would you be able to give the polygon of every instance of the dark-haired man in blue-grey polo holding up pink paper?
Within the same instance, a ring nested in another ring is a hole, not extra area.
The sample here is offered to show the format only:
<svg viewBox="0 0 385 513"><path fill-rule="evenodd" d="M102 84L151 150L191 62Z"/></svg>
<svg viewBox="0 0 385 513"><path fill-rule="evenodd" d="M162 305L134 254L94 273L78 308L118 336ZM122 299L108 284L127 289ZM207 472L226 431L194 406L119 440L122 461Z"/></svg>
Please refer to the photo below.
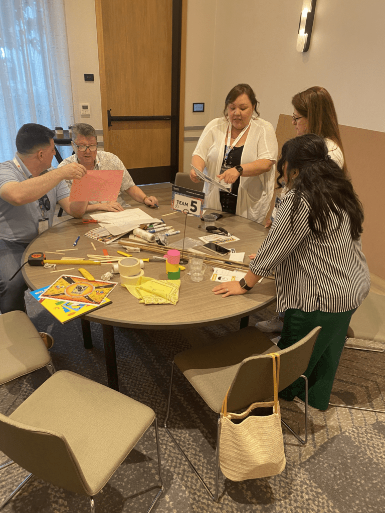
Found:
<svg viewBox="0 0 385 513"><path fill-rule="evenodd" d="M13 160L0 164L0 311L24 310L27 286L17 273L28 244L52 226L56 203L74 218L81 218L88 202L69 202L65 180L80 180L86 169L75 162L52 169L54 132L28 123L16 135ZM44 249L44 248L43 248Z"/></svg>

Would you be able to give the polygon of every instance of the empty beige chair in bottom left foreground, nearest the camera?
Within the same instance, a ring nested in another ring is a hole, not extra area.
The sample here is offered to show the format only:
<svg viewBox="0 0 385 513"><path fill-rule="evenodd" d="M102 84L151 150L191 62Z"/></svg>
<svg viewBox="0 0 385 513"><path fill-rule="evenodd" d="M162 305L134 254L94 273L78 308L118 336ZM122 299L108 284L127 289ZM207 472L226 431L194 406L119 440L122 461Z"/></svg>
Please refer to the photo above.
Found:
<svg viewBox="0 0 385 513"><path fill-rule="evenodd" d="M67 370L55 372L9 417L0 414L0 450L31 474L0 505L5 506L32 475L90 497L104 487L155 421L151 408Z"/></svg>

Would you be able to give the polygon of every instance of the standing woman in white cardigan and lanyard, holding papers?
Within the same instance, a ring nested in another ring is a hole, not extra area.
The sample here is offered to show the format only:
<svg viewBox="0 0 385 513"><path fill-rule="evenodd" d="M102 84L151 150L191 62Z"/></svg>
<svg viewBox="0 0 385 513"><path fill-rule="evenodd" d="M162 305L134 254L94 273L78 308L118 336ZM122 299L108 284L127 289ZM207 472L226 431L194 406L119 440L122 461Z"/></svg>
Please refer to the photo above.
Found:
<svg viewBox="0 0 385 513"><path fill-rule="evenodd" d="M191 164L213 179L232 184L235 196L205 182L205 208L262 223L273 196L278 143L271 123L259 117L257 105L248 84L233 87L223 117L205 127ZM190 178L199 181L194 169Z"/></svg>

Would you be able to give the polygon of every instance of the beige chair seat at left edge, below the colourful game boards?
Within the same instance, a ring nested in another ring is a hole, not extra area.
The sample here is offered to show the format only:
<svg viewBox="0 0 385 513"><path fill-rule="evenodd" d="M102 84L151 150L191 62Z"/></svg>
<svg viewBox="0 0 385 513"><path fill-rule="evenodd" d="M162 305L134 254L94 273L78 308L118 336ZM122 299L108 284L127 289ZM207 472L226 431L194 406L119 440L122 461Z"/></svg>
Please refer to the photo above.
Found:
<svg viewBox="0 0 385 513"><path fill-rule="evenodd" d="M0 362L0 385L42 367L54 372L41 336L21 310L0 315Z"/></svg>

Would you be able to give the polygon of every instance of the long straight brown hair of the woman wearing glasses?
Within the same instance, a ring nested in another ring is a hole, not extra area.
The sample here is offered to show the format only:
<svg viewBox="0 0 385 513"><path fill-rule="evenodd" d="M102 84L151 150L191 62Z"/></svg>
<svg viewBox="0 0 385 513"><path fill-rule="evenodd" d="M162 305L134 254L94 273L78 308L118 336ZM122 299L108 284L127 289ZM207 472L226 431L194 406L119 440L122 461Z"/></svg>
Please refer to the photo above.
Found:
<svg viewBox="0 0 385 513"><path fill-rule="evenodd" d="M309 89L295 94L292 98L292 104L301 116L307 117L307 133L315 133L323 139L331 139L339 146L343 155L342 169L347 174L337 113L329 92L324 87L309 87Z"/></svg>

